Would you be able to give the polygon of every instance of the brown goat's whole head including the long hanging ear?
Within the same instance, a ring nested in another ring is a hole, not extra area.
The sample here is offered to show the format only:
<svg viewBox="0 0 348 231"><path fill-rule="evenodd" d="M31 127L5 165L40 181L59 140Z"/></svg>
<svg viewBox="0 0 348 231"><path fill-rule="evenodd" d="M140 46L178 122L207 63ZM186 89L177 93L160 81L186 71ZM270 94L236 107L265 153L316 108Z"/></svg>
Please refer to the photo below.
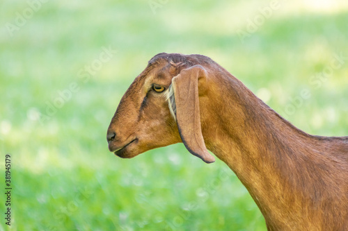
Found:
<svg viewBox="0 0 348 231"><path fill-rule="evenodd" d="M155 55L136 77L108 128L111 152L131 158L152 148L184 142L193 155L214 162L200 130L198 76L193 74L197 68L184 71L187 62L182 60L186 60L184 55ZM180 75L182 70L184 75Z"/></svg>

